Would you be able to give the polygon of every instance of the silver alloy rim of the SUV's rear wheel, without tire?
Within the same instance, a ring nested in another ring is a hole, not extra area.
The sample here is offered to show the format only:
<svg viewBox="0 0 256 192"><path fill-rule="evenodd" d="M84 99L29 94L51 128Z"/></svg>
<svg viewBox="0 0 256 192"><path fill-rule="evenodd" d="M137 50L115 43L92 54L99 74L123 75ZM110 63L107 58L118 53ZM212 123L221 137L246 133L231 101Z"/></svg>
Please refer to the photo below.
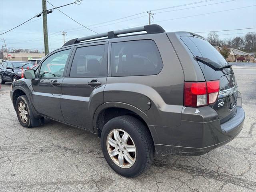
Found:
<svg viewBox="0 0 256 192"><path fill-rule="evenodd" d="M136 161L136 146L131 136L122 129L112 130L107 137L110 158L121 168L130 168Z"/></svg>

